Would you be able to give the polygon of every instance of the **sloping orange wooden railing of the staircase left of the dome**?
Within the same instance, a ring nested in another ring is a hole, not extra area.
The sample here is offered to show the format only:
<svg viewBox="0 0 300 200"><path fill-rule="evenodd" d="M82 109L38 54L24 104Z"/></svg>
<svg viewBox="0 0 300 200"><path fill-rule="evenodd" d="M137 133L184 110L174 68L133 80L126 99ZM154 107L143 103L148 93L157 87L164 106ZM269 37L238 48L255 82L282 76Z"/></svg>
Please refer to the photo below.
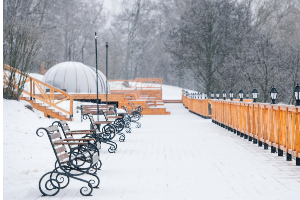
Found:
<svg viewBox="0 0 300 200"><path fill-rule="evenodd" d="M9 78L7 72L10 72L11 70L15 69L12 69L9 65L3 64L3 85L7 85ZM21 74L21 72L19 70L16 70L16 74ZM49 89L49 92L46 92L46 89ZM72 95L61 89L58 89L52 85L42 82L41 80L28 76L25 80L23 93L29 95L30 99L38 99L41 102L44 102L47 105L64 112L67 115L70 115L70 117L73 116L73 97ZM54 95L60 95L63 96L63 98L60 100L55 100ZM69 110L66 110L65 108L58 105L67 100L70 100L68 106Z"/></svg>

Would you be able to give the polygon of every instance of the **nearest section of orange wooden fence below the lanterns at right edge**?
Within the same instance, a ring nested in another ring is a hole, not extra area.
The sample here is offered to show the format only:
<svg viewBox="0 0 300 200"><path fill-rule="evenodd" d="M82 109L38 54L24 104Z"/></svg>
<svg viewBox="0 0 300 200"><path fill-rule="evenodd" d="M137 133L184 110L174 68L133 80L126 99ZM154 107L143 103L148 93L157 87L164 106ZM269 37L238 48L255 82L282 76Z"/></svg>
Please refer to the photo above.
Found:
<svg viewBox="0 0 300 200"><path fill-rule="evenodd" d="M300 107L212 100L212 120L300 165ZM299 159L299 160L298 160Z"/></svg>

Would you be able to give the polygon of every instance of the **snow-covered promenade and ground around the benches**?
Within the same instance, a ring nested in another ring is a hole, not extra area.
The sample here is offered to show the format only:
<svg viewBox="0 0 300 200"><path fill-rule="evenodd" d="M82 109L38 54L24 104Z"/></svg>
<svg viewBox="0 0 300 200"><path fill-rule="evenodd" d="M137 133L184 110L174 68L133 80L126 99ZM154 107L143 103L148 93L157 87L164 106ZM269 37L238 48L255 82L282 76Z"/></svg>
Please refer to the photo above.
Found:
<svg viewBox="0 0 300 200"><path fill-rule="evenodd" d="M295 161L285 161L286 157L189 113L182 104L166 107L171 115L144 115L142 127L133 128L125 142L118 143L117 153L108 153L103 144L100 189L94 189L91 197L81 196L82 183L72 179L55 197L41 197L38 181L54 164L49 141L35 133L23 134L19 141L23 129L9 132L4 127L3 199L296 199L299 195L300 167L294 166ZM3 123L9 120L6 116ZM28 119L24 123L33 126ZM70 126L79 129L87 123Z"/></svg>

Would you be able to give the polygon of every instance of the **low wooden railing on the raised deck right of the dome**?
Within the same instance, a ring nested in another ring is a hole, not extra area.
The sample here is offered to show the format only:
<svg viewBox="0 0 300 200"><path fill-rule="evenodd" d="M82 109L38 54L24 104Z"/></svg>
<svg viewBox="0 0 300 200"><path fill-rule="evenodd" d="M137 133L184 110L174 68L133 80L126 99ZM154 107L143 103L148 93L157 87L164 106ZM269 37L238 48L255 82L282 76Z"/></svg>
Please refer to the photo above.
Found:
<svg viewBox="0 0 300 200"><path fill-rule="evenodd" d="M111 90L161 89L162 78L136 78L132 80L108 80Z"/></svg>

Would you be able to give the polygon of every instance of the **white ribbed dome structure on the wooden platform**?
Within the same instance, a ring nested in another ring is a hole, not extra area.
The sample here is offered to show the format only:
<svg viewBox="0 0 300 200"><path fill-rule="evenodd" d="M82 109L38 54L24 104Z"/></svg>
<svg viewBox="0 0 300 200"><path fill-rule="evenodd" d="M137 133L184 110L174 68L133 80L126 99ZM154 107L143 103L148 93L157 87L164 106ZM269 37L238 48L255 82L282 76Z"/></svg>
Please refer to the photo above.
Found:
<svg viewBox="0 0 300 200"><path fill-rule="evenodd" d="M58 63L46 72L43 81L66 92L97 93L96 68L81 62ZM106 77L99 70L98 92L106 93ZM109 86L108 93L110 93Z"/></svg>

